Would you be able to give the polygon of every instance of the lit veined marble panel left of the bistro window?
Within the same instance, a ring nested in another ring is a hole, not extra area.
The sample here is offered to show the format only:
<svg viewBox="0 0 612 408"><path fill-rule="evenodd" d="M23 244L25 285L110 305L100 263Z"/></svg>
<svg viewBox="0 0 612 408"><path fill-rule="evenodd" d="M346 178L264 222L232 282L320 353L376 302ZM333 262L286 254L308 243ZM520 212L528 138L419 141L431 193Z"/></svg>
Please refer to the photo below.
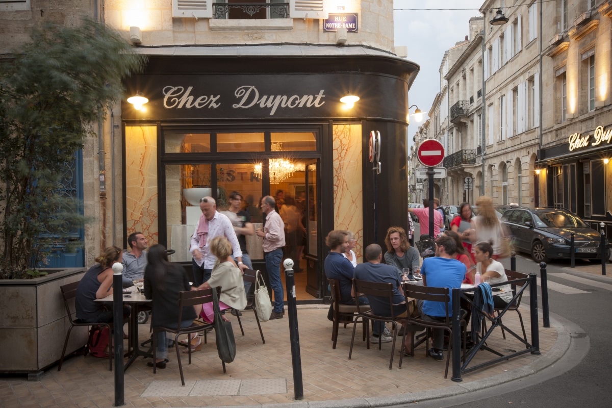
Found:
<svg viewBox="0 0 612 408"><path fill-rule="evenodd" d="M159 242L157 224L157 128L125 127L127 234L141 231L149 246Z"/></svg>

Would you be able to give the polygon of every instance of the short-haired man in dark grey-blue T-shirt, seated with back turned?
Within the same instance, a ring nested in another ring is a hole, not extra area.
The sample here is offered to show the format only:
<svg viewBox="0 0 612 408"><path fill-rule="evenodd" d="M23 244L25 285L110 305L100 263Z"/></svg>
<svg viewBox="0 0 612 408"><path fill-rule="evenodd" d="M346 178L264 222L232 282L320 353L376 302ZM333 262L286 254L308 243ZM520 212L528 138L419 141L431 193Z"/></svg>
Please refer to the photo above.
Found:
<svg viewBox="0 0 612 408"><path fill-rule="evenodd" d="M365 248L365 260L363 264L355 267L355 279L368 282L392 283L393 284L393 304L395 317L406 316L406 303L404 292L401 289L400 274L397 268L392 265L381 264L383 260L383 249L378 243L371 243ZM368 296L370 307L379 316L389 316L389 302L384 297ZM387 329L387 328L386 328ZM387 329L388 330L388 329ZM391 334L389 332L389 334ZM392 338L383 335L382 341L386 343ZM378 336L373 335L372 341L378 343Z"/></svg>

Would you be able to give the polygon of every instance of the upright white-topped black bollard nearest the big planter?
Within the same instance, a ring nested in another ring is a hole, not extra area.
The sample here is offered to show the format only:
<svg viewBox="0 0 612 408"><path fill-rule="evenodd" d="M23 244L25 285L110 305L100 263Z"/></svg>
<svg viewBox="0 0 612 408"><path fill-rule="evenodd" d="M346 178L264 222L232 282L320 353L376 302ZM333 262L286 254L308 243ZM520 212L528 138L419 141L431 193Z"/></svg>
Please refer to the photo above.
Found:
<svg viewBox="0 0 612 408"><path fill-rule="evenodd" d="M119 407L124 402L124 378L123 378L123 265L121 262L113 264L113 344L114 344L114 382L115 382L115 404Z"/></svg>

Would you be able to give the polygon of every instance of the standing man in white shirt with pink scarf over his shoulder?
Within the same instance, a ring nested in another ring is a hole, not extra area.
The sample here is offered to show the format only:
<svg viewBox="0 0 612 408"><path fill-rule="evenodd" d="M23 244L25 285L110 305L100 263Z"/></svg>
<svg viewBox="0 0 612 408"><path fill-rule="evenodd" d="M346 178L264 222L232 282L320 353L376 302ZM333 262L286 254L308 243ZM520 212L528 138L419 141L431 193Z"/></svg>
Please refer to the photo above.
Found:
<svg viewBox="0 0 612 408"><path fill-rule="evenodd" d="M193 255L193 286L195 287L200 286L211 277L212 267L217 257L211 253L208 243L214 237L226 237L231 243L238 267L241 270L247 269L247 265L242 263L242 251L230 218L217 211L217 203L212 197L201 198L200 209L202 215L195 225L195 232L193 232L191 247L189 248Z"/></svg>

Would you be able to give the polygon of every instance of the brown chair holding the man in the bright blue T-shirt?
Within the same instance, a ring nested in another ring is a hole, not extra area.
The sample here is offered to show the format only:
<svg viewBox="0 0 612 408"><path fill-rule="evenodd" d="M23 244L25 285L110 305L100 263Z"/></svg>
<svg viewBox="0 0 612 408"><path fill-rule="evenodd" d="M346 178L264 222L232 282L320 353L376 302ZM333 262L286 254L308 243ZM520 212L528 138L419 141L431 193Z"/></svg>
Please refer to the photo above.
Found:
<svg viewBox="0 0 612 408"><path fill-rule="evenodd" d="M449 376L449 362L450 362L450 354L452 354L452 338L453 338L453 330L452 330L452 322L450 319L450 311L452 311L452 306L450 306L450 289L448 287L432 287L432 286L419 286L415 284L405 283L402 285L404 289L404 296L406 298L406 303L409 300L428 300L430 302L444 302L444 307L446 309L446 317L440 317L438 322L430 322L421 319L420 317L412 317L408 314L408 325L417 325L427 328L428 332L434 328L441 328L442 330L446 330L449 332L449 351L446 354L446 371L444 371L444 378ZM465 345L466 345L466 322L462 318L460 322L461 332L463 333L463 355L465 355ZM425 355L429 355L429 333L425 335ZM411 332L412 336L412 349L411 354L414 355L414 332ZM404 336L402 337L401 342L401 351L400 351L400 368L401 362L404 357L404 340L406 337L406 331L404 332Z"/></svg>

